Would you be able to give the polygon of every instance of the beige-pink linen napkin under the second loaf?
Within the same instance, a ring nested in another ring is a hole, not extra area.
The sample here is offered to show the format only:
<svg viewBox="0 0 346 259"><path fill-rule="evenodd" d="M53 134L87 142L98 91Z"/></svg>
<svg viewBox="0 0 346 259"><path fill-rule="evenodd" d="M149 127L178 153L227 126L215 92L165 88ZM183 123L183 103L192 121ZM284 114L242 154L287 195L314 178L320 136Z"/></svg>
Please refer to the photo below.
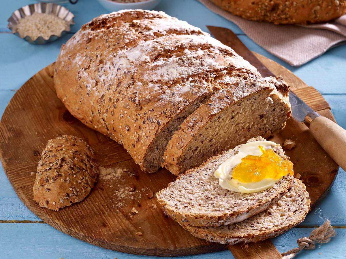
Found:
<svg viewBox="0 0 346 259"><path fill-rule="evenodd" d="M210 0L198 1L233 21L254 42L292 66L301 66L346 41L346 15L328 23L307 26L274 25L231 15Z"/></svg>

